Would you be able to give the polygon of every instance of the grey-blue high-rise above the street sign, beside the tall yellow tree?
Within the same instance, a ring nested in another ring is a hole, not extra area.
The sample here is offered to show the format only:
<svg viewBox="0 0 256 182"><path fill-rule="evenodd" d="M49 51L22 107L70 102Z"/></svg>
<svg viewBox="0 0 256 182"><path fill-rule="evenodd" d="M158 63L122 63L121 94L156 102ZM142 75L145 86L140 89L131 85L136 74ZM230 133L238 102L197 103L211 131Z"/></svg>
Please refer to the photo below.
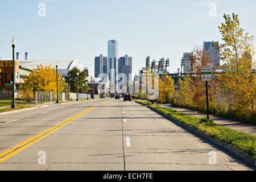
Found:
<svg viewBox="0 0 256 182"><path fill-rule="evenodd" d="M210 67L218 67L220 66L220 52L213 46L213 44L218 42L204 42L203 51L208 51L209 54L209 66Z"/></svg>

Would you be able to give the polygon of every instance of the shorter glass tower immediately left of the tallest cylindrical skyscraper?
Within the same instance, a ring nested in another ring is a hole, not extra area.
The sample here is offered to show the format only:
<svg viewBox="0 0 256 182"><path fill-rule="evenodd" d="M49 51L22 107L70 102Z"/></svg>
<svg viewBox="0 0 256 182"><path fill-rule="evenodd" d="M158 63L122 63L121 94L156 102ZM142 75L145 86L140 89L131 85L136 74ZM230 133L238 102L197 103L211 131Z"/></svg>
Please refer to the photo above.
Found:
<svg viewBox="0 0 256 182"><path fill-rule="evenodd" d="M101 73L108 74L108 57L96 56L94 59L94 77L98 77Z"/></svg>

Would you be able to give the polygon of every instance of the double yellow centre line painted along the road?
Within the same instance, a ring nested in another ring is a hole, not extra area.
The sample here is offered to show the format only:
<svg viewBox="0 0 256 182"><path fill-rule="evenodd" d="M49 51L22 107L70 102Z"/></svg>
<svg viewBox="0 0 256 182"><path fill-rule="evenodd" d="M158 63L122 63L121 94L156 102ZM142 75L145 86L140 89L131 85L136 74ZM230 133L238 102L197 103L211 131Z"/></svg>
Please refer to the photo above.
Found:
<svg viewBox="0 0 256 182"><path fill-rule="evenodd" d="M102 104L104 104L104 103L102 103ZM74 119L79 118L81 115L88 113L90 110L93 110L96 107L97 106L90 107L89 109L82 111L81 113L79 113L77 115L74 115L73 117L57 124L56 126L51 127L50 129L44 131L43 133L40 133L34 137L31 137L31 138L25 140L24 142L19 143L18 145L11 148L10 150L3 152L2 154L0 154L0 163L5 162L5 160L11 158L15 154L18 154L20 151L23 151L25 148L31 146L32 144L38 142L39 140L42 140L44 137L47 137L49 134L61 129L61 127L67 125L69 122L72 122Z"/></svg>

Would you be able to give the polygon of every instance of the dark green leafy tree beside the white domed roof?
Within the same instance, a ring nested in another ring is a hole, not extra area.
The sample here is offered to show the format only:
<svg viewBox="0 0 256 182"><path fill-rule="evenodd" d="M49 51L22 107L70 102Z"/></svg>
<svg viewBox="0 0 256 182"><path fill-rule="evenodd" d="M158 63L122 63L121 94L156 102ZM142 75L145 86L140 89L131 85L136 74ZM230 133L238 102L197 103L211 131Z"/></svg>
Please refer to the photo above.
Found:
<svg viewBox="0 0 256 182"><path fill-rule="evenodd" d="M79 73L79 93L87 93L88 80L86 80L86 72L80 71L77 67L68 71L67 82L70 87L70 91L73 93L77 92L77 73Z"/></svg>

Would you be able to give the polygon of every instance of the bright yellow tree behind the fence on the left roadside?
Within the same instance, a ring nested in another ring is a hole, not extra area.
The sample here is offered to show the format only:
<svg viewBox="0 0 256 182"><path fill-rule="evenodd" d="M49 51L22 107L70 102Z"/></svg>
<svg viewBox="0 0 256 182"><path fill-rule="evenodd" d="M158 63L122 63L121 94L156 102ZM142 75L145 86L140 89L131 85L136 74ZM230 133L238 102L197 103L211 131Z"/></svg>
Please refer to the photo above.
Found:
<svg viewBox="0 0 256 182"><path fill-rule="evenodd" d="M61 80L62 76L58 75L58 87L59 92L63 92L66 88L66 83L64 80ZM55 68L49 66L43 67L42 64L38 66L38 69L33 69L29 75L27 75L26 80L24 81L25 90L33 91L53 91L56 92L56 70Z"/></svg>

